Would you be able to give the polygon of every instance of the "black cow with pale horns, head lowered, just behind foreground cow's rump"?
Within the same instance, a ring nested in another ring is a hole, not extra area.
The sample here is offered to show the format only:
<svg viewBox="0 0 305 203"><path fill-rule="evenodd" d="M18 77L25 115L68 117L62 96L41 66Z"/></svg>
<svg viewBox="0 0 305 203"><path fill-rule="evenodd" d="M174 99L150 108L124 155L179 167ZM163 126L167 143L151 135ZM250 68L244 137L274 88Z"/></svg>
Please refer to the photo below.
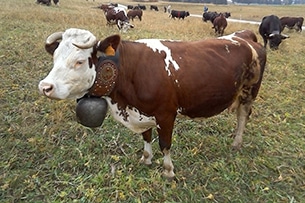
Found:
<svg viewBox="0 0 305 203"><path fill-rule="evenodd" d="M264 40L264 47L266 48L269 41L270 49L278 49L283 39L288 38L287 35L281 34L282 24L279 17L275 15L265 16L259 25L259 33Z"/></svg>

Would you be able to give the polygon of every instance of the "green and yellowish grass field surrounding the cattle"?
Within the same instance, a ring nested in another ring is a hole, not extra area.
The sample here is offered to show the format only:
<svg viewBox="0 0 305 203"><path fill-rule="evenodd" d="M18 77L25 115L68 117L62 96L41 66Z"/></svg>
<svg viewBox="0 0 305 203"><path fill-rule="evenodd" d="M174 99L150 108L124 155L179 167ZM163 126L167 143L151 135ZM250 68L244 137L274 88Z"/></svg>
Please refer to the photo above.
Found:
<svg viewBox="0 0 305 203"><path fill-rule="evenodd" d="M75 101L53 101L38 93L52 68L46 37L66 28L90 30L99 38L118 33L107 27L100 1L0 1L0 202L305 202L305 36L290 36L268 63L241 151L232 151L235 115L204 121L177 119L172 159L177 181L161 177L157 137L151 167L139 163L143 142L108 116L89 129L75 119ZM121 1L124 4L137 2ZM154 2L162 8L168 2ZM147 3L147 5L150 5ZM202 13L202 4L171 3ZM208 5L232 18L304 15L304 6ZM144 12L124 40L215 37L210 23L171 20L163 11ZM225 34L258 26L230 23ZM262 42L261 37L258 39Z"/></svg>

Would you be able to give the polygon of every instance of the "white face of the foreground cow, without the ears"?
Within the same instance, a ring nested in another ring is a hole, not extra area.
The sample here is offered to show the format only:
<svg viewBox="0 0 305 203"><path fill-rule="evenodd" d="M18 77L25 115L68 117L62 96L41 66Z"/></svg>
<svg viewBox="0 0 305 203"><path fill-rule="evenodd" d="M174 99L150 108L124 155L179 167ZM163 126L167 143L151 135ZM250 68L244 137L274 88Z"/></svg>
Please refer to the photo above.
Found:
<svg viewBox="0 0 305 203"><path fill-rule="evenodd" d="M88 92L96 75L91 62L93 48L80 49L73 44L83 44L90 37L94 37L90 32L75 29L63 34L53 54L53 69L39 83L42 94L52 99L76 99Z"/></svg>

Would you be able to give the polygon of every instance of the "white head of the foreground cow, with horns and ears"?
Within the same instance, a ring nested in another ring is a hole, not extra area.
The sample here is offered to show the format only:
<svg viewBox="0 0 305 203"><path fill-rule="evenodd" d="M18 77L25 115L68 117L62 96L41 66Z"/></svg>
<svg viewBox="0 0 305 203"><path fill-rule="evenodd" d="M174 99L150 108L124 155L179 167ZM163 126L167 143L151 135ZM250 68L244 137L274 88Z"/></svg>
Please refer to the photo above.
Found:
<svg viewBox="0 0 305 203"><path fill-rule="evenodd" d="M39 91L51 99L83 97L95 81L97 51L113 55L119 43L119 35L97 41L91 32L75 28L51 34L45 49L53 55L54 65L39 82Z"/></svg>

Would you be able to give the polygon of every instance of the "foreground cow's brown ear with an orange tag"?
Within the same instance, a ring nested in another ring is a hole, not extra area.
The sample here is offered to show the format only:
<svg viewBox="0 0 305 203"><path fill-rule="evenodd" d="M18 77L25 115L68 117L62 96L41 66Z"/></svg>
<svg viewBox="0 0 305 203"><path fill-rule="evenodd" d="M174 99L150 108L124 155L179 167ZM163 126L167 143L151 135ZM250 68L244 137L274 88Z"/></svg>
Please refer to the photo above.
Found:
<svg viewBox="0 0 305 203"><path fill-rule="evenodd" d="M104 52L106 55L114 56L121 41L120 35L112 35L103 41L97 43L97 50Z"/></svg>

